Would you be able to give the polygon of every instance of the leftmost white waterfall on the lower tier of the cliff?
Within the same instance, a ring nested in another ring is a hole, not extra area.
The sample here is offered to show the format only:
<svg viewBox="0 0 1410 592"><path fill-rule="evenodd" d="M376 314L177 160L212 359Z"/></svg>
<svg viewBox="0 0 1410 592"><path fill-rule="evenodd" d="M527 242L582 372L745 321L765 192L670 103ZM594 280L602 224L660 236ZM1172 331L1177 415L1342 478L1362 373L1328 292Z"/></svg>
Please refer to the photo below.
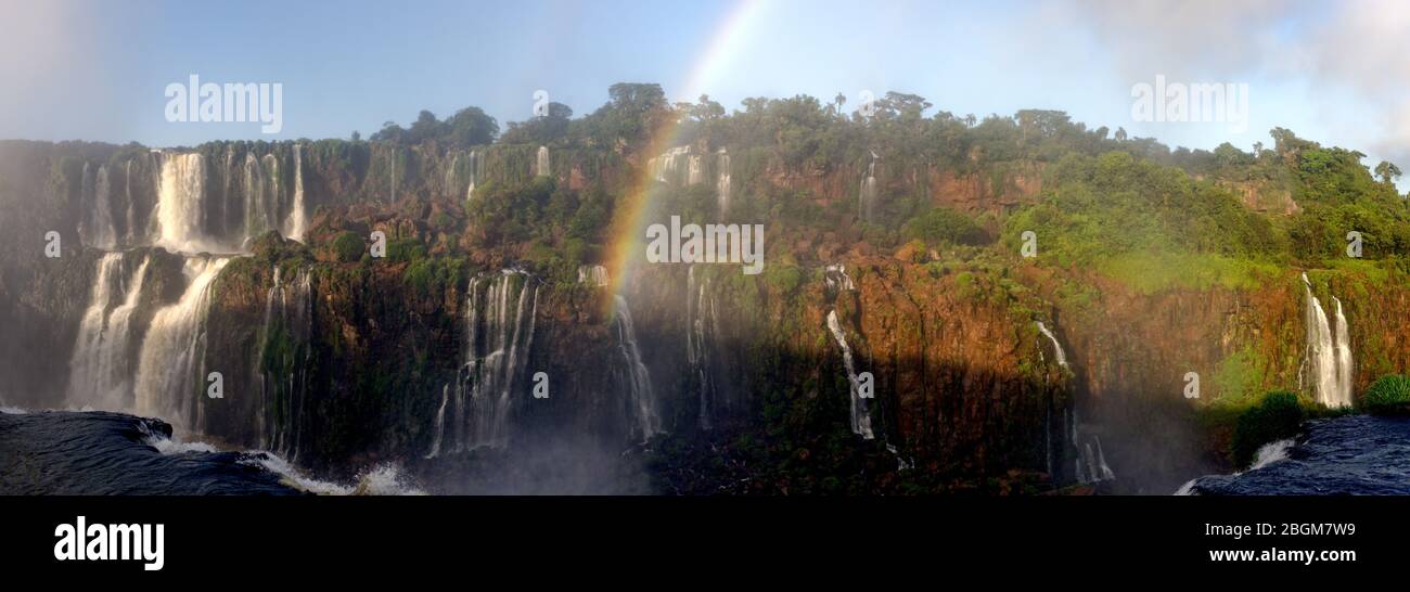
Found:
<svg viewBox="0 0 1410 592"><path fill-rule="evenodd" d="M123 261L121 252L109 252L97 262L97 279L69 361L66 397L72 406L107 410L130 407L131 321L147 279L148 259L142 259L125 283L121 278ZM118 296L123 297L121 302L117 302Z"/></svg>

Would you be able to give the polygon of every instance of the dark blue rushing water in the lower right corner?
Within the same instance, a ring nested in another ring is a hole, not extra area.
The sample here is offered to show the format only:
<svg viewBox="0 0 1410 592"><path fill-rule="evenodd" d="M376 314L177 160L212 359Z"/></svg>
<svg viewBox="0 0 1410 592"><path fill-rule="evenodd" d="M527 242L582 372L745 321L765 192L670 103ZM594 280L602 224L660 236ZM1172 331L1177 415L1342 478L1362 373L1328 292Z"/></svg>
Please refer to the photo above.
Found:
<svg viewBox="0 0 1410 592"><path fill-rule="evenodd" d="M1210 475L1177 493L1410 495L1410 417L1347 416L1307 423L1235 475Z"/></svg>

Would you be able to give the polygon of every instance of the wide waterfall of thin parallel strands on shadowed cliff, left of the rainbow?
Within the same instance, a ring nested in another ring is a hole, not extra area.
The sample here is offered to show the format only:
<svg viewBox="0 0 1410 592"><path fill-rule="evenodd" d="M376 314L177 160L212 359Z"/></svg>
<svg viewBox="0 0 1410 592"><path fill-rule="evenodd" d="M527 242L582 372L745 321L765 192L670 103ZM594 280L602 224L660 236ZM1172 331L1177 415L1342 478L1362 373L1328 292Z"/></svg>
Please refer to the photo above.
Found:
<svg viewBox="0 0 1410 592"><path fill-rule="evenodd" d="M533 351L537 314L539 285L522 271L505 269L470 282L468 338L455 390L455 450L509 444L509 410ZM434 445L431 455L440 448Z"/></svg>

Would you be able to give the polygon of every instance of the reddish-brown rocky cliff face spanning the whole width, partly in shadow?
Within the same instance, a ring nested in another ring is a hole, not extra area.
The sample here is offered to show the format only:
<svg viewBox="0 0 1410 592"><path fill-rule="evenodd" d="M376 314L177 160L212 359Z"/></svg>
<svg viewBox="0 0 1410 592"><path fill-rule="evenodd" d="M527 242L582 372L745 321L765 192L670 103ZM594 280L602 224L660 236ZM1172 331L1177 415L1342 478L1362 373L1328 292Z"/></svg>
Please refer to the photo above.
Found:
<svg viewBox="0 0 1410 592"><path fill-rule="evenodd" d="M977 249L946 255L955 261L909 247L880 257L859 230L808 226L770 242L757 276L736 265L636 264L615 295L517 269L532 245L475 247L471 237L486 228L470 227L462 202L471 183L529 182L534 147L203 147L203 189L186 197L210 207L192 228L227 242L255 230L258 238L219 255L224 268L209 293L185 303L192 264L207 258L148 245L158 237L154 176L171 155L0 148L13 156L0 158L7 166L32 166L0 183L0 237L13 247L0 258L0 324L14 335L0 366L7 403L69 405L99 271L120 254L120 280L87 327L100 334L137 290L133 328L102 358L133 382L123 405L137 403L140 362L149 375L169 366L172 381L144 386L189 409L169 421L331 474L398 462L446 491L501 479L488 491L554 492L561 483L536 479L572 465L581 474L571 491L901 493L1046 491L1110 469L1121 491L1166 493L1224 462L1210 452L1222 450L1221 434L1200 428L1197 405L1311 392L1308 299L1296 271L1255 286L1144 292ZM570 187L630 172L613 155L550 158L550 176ZM847 211L864 175L784 173L733 158L740 185L846 200ZM93 244L99 166L109 209L133 210L114 218L110 248ZM1041 173L876 172L890 193L988 213L1029 199ZM28 192L41 199L25 202ZM303 244L279 237L296 203L307 217ZM44 258L34 228L59 231L63 257ZM424 252L374 259L334 248L344 233L372 231ZM1410 366L1404 276L1354 265L1308 276L1324 306L1335 297L1349 320L1355 389ZM164 335L190 344L168 354L189 351L195 362L144 358L158 314ZM206 396L209 372L223 378L219 399ZM533 396L540 372L547 397ZM1200 376L1198 403L1184 397L1187 372ZM863 382L874 397L859 395ZM602 486L594 474L603 471L622 474Z"/></svg>

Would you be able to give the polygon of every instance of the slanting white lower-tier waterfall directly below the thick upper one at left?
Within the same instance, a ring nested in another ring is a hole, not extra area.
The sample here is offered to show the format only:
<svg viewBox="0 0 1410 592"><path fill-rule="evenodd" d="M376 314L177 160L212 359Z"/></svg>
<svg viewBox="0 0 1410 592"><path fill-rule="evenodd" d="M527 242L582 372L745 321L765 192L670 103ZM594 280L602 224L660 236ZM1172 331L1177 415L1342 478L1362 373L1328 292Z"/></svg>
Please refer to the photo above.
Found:
<svg viewBox="0 0 1410 592"><path fill-rule="evenodd" d="M206 376L197 368L204 357L206 310L210 283L227 258L186 259L182 272L190 278L175 304L157 312L137 366L137 412L159 416L176 424L195 423L192 410L197 393L204 396Z"/></svg>

